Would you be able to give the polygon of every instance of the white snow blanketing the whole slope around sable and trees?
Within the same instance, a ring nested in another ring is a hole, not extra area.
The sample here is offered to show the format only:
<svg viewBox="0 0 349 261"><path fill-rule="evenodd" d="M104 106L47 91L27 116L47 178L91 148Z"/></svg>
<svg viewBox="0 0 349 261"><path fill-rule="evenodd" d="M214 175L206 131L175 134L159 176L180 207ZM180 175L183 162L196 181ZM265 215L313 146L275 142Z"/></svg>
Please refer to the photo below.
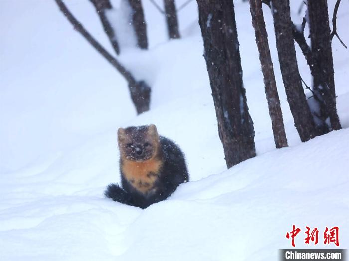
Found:
<svg viewBox="0 0 349 261"><path fill-rule="evenodd" d="M301 143L277 65L272 17L264 9L290 145L276 150L249 5L234 1L258 155L226 170L196 3L179 12L182 39L168 41L164 17L143 2L150 50L120 55L152 86L151 110L136 116L123 78L54 1L0 0L0 260L270 261L278 249L291 248L285 235L293 224L302 229L297 248L335 248L323 244L326 226L339 226L340 248L348 248L348 49L333 40L344 129ZM67 3L112 52L89 1ZM300 23L299 1L291 4ZM329 1L330 16L334 4ZM349 2L342 1L337 27L347 45L348 23ZM192 182L145 210L104 198L105 186L120 180L117 128L149 123L180 145ZM319 228L318 245L304 244L305 226Z"/></svg>

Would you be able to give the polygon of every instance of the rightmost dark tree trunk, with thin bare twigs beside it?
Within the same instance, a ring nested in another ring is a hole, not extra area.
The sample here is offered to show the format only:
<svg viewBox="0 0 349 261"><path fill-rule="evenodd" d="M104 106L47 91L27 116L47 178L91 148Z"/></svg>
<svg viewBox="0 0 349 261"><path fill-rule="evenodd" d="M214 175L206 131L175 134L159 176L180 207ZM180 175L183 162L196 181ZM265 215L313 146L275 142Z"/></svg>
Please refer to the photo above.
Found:
<svg viewBox="0 0 349 261"><path fill-rule="evenodd" d="M334 130L341 129L336 110L336 92L326 0L308 0L309 29L313 64L314 98L320 104L319 118Z"/></svg>

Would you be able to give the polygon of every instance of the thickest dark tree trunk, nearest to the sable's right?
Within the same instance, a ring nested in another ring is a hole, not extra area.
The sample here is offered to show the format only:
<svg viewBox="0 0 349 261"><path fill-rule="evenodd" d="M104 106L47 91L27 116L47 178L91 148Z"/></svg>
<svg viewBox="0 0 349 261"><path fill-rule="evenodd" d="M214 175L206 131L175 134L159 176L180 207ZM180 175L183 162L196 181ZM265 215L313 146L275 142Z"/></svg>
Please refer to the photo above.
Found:
<svg viewBox="0 0 349 261"><path fill-rule="evenodd" d="M223 144L230 168L256 155L248 112L233 1L197 0L204 57Z"/></svg>

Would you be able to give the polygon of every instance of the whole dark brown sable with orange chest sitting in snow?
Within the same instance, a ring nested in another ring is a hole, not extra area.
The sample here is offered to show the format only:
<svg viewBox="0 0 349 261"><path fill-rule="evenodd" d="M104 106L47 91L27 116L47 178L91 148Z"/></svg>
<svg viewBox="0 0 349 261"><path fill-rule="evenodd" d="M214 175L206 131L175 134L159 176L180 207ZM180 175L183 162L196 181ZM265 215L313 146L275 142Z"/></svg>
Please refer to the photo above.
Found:
<svg viewBox="0 0 349 261"><path fill-rule="evenodd" d="M159 136L155 125L120 128L118 144L122 188L109 185L107 197L145 208L188 181L183 153L174 142Z"/></svg>

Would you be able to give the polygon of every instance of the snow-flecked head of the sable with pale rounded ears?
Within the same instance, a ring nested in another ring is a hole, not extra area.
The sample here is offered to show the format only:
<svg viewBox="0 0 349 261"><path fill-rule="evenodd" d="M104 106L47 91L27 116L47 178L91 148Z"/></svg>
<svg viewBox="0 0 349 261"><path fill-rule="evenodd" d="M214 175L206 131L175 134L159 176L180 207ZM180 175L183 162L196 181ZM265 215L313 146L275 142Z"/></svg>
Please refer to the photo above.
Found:
<svg viewBox="0 0 349 261"><path fill-rule="evenodd" d="M158 150L159 134L154 124L118 129L120 154L131 161L146 161Z"/></svg>

